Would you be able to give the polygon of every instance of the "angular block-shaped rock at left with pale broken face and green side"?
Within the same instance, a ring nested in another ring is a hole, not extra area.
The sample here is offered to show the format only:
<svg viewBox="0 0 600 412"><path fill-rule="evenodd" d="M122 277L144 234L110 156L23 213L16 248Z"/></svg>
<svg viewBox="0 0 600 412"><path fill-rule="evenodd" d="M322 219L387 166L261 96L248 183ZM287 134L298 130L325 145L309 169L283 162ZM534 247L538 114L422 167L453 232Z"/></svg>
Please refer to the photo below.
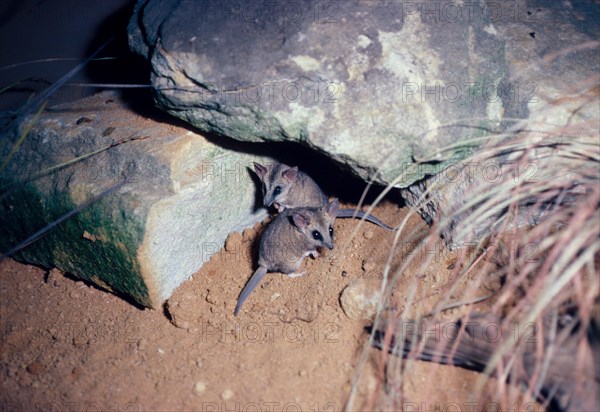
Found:
<svg viewBox="0 0 600 412"><path fill-rule="evenodd" d="M18 138L3 136L2 159ZM0 175L1 250L117 185L14 257L158 307L230 232L266 216L248 168L254 160L269 161L144 118L115 94L55 107Z"/></svg>

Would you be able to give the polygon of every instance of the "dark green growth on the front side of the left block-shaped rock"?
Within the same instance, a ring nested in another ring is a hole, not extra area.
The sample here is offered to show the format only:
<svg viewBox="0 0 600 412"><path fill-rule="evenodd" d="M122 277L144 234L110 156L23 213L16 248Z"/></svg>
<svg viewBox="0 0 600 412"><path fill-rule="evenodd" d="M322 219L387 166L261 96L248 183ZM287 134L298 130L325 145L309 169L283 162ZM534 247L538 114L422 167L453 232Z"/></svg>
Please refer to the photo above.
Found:
<svg viewBox="0 0 600 412"><path fill-rule="evenodd" d="M143 237L142 219L124 207L126 202L123 196L109 194L13 257L45 268L57 267L85 280L100 279L115 292L151 306L136 259ZM4 193L0 199L0 247L4 252L12 249L76 207L67 194L43 195L34 184Z"/></svg>

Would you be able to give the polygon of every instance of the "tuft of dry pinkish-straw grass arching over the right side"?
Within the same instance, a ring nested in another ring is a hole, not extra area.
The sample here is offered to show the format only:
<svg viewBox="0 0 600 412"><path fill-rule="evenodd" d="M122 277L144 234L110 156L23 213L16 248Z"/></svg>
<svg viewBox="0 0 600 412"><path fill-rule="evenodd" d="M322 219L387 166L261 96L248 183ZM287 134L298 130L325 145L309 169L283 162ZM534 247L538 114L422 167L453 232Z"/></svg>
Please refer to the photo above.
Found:
<svg viewBox="0 0 600 412"><path fill-rule="evenodd" d="M440 176L429 182L411 214L437 203L422 244L443 238L456 260L435 308L415 313L419 279L435 268L435 256L410 254L394 267L401 239L416 236L406 233L406 221L400 225L369 339L382 349L379 390L359 395L373 354L367 347L348 410L402 410L420 360L481 372L465 401L502 410L523 400L550 410L600 405L600 137L597 114L586 115L599 107L599 95L591 86L557 99L487 136L452 168L451 183ZM548 122L565 107L571 116L564 124ZM483 311L475 310L478 302ZM428 392L424 398L432 399Z"/></svg>

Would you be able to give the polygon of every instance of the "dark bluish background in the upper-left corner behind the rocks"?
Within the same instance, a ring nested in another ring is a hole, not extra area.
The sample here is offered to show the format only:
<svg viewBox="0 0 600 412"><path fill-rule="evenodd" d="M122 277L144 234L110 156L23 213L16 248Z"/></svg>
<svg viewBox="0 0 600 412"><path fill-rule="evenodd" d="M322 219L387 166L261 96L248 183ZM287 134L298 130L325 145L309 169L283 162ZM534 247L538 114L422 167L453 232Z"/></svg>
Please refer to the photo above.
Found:
<svg viewBox="0 0 600 412"><path fill-rule="evenodd" d="M100 90L85 84L147 84L148 66L129 52L127 44L134 4L134 0L88 4L27 0L0 6L4 36L0 110L10 114L40 96L109 39L93 61L67 80L77 84L60 87L48 97L49 105L73 102Z"/></svg>

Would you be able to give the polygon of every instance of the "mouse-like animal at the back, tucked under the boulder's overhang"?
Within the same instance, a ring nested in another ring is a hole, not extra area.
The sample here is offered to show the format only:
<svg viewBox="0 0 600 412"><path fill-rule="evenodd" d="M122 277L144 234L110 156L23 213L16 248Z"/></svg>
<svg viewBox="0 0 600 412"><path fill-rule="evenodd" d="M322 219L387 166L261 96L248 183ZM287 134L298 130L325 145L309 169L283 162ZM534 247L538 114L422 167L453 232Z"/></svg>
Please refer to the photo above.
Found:
<svg viewBox="0 0 600 412"><path fill-rule="evenodd" d="M254 171L262 182L263 203L266 207L273 205L278 212L287 208L322 207L327 204L327 196L319 185L306 173L283 163L271 163L266 166L254 162ZM353 209L338 210L337 217L356 217L388 230L393 227L386 225L372 215Z"/></svg>

